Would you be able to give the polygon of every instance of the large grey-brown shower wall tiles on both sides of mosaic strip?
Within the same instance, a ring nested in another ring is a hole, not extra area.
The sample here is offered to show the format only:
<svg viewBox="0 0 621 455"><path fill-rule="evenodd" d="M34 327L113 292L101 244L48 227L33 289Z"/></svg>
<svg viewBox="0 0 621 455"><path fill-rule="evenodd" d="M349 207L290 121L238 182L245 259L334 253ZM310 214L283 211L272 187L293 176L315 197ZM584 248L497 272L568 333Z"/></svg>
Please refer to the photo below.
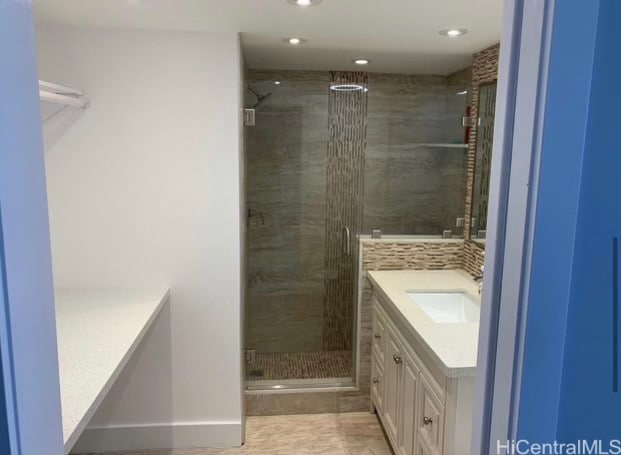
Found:
<svg viewBox="0 0 621 455"><path fill-rule="evenodd" d="M247 129L246 347L333 348L323 306L330 74L249 71L247 80L271 95ZM463 142L465 100L455 94L466 83L466 76L369 75L363 230L437 235L464 212L466 153L420 144ZM255 102L247 92L246 106Z"/></svg>

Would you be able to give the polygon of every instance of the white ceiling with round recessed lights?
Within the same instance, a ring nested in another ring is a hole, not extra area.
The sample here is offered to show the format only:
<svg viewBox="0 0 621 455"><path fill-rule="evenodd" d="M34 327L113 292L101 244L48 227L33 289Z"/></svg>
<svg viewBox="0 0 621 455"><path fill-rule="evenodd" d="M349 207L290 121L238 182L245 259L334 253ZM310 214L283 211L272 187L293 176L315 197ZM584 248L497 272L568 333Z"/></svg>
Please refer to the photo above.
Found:
<svg viewBox="0 0 621 455"><path fill-rule="evenodd" d="M449 74L500 40L502 0L37 0L39 24L239 31L252 69ZM467 28L457 38L438 31ZM308 40L299 46L285 37Z"/></svg>

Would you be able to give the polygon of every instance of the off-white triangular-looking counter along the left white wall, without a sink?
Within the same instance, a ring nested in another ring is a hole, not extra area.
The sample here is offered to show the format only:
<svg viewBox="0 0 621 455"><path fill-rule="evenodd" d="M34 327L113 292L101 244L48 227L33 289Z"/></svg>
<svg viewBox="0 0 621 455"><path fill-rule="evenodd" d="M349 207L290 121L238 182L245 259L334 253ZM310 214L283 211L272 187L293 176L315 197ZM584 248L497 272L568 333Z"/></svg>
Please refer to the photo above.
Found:
<svg viewBox="0 0 621 455"><path fill-rule="evenodd" d="M160 310L168 289L57 289L56 330L69 453Z"/></svg>

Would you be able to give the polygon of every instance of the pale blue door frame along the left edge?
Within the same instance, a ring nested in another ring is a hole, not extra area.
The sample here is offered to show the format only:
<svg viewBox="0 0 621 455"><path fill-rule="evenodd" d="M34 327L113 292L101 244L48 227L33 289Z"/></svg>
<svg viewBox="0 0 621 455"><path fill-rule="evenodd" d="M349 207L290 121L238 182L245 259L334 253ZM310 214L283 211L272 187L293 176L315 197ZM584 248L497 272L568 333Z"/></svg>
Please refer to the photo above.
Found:
<svg viewBox="0 0 621 455"><path fill-rule="evenodd" d="M32 2L0 0L0 434L11 455L64 454L49 235Z"/></svg>

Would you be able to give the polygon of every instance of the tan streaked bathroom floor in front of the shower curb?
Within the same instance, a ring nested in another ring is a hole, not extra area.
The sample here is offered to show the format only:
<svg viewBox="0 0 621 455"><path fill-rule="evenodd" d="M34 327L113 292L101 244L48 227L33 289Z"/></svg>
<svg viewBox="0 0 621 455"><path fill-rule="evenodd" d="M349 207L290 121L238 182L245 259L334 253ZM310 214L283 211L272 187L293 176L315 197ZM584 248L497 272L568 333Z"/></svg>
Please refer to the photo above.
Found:
<svg viewBox="0 0 621 455"><path fill-rule="evenodd" d="M246 444L107 455L391 455L377 417L368 412L249 417Z"/></svg>

